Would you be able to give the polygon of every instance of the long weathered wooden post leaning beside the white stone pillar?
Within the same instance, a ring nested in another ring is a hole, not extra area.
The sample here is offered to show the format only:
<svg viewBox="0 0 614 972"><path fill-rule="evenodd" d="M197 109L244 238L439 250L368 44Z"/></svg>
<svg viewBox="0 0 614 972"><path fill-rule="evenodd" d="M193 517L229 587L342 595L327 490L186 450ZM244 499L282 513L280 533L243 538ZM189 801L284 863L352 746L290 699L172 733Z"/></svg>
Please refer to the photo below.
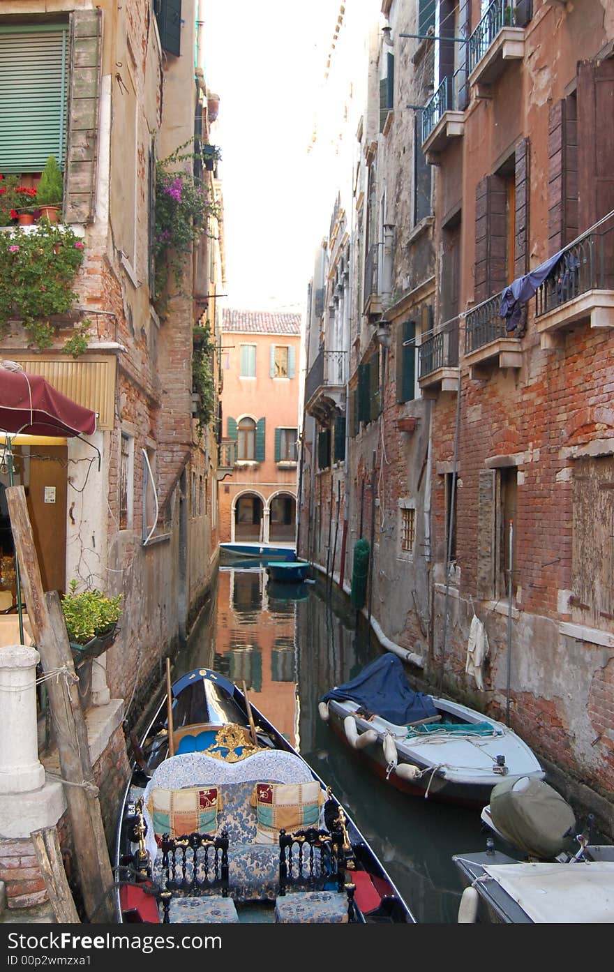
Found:
<svg viewBox="0 0 614 972"><path fill-rule="evenodd" d="M45 674L65 670L67 677L47 682L56 726L66 803L70 814L85 914L92 923L115 920L113 872L106 844L98 789L94 783L84 713L66 625L55 591L45 593L23 486L7 489L11 527L28 617Z"/></svg>

